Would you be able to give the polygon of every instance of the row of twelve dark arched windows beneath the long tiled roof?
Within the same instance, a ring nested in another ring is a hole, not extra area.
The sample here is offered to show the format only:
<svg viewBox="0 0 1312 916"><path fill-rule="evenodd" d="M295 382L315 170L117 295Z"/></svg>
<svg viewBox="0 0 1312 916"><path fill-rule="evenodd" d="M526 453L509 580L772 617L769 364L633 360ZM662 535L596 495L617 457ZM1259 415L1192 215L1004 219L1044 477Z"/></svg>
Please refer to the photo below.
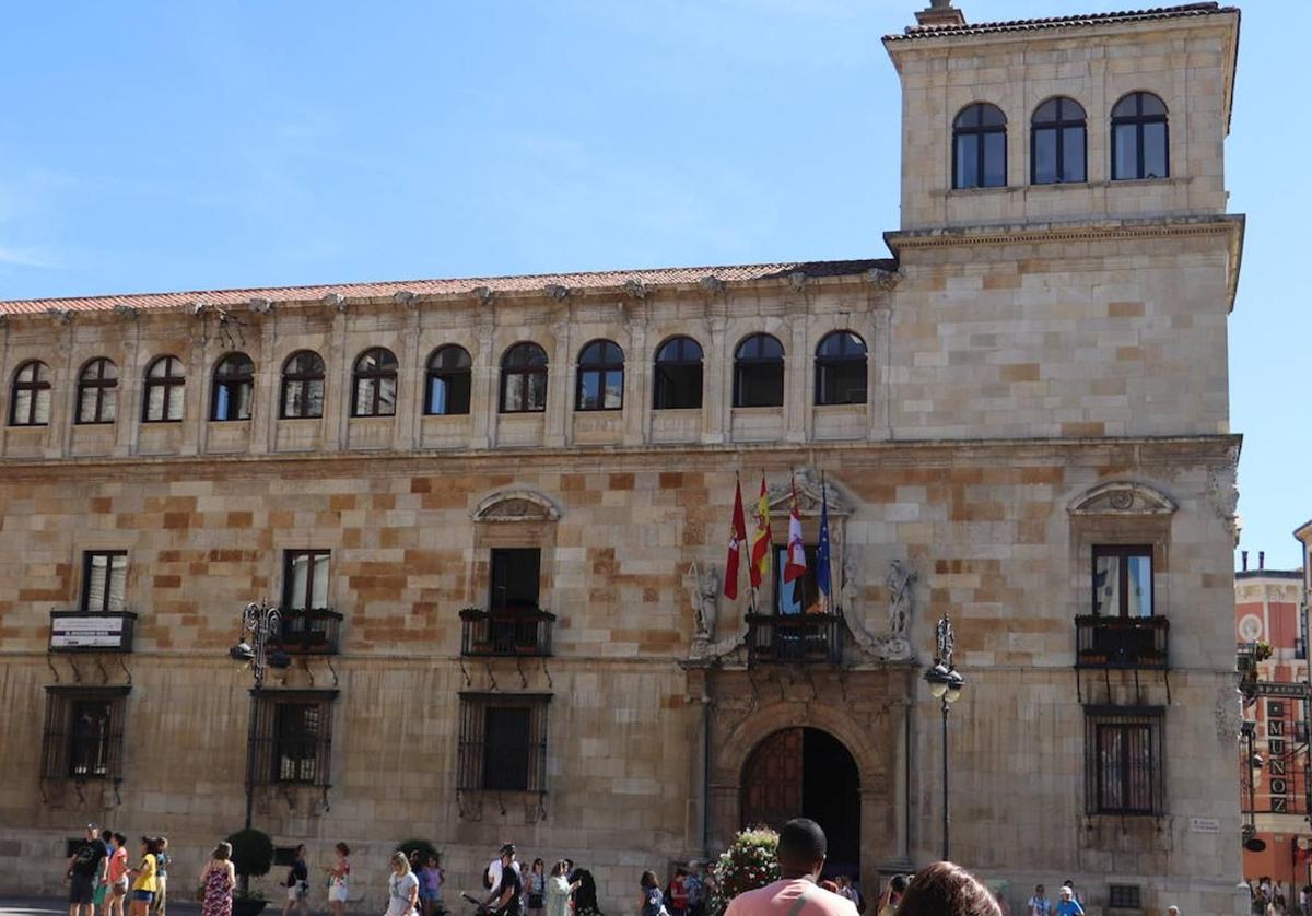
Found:
<svg viewBox="0 0 1312 916"><path fill-rule="evenodd" d="M733 406L783 404L783 344L768 333L744 339L733 356ZM437 348L425 364L424 413L470 412L472 361L463 346ZM547 407L547 353L531 341L514 344L501 357L499 409L534 413ZM652 407L702 407L702 346L691 337L670 337L656 350ZM815 353L817 404L866 403L866 343L851 331L827 335ZM45 427L52 395L50 367L39 360L24 362L14 373L9 398L9 425ZM399 364L382 346L361 353L352 365L350 413L357 417L394 416ZM118 367L97 357L77 374L77 424L112 424L118 417ZM312 350L293 353L282 365L279 417L308 420L324 413L327 371ZM142 420L182 420L186 378L182 361L161 356L146 369ZM255 402L255 362L245 353L230 353L214 367L210 420L249 420ZM625 406L625 352L610 340L594 340L579 353L575 409L618 411Z"/></svg>

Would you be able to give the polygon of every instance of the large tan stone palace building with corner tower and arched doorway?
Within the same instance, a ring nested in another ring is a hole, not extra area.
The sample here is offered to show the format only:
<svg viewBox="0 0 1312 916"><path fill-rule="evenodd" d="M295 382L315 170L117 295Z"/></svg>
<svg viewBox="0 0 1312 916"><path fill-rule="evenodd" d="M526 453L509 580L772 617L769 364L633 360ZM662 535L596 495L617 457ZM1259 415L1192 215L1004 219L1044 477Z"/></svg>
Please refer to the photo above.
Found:
<svg viewBox="0 0 1312 916"><path fill-rule="evenodd" d="M0 302L0 890L240 827L268 601L256 824L361 908L424 837L619 912L796 812L872 894L941 854L946 613L953 858L1235 912L1237 39L935 1L887 259ZM781 550L828 501L832 605L724 597L736 476Z"/></svg>

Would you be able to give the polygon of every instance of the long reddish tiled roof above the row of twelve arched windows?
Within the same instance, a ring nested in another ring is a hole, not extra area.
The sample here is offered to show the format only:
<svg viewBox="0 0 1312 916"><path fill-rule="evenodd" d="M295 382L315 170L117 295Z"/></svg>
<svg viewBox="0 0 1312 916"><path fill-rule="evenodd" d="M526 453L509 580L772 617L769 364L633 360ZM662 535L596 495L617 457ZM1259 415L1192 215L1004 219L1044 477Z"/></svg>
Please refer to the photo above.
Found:
<svg viewBox="0 0 1312 916"><path fill-rule="evenodd" d="M543 293L550 286L563 286L569 290L622 290L628 281L638 281L648 287L678 286L698 283L716 278L726 283L786 278L803 273L808 278L845 277L866 273L874 268L892 269L888 259L866 259L854 261L790 261L782 264L739 264L707 268L656 268L646 270L600 270L593 273L546 273L522 277L468 277L463 280L407 280L380 283L327 283L321 286L279 286L268 289L237 290L193 290L186 293L127 293L123 295L70 297L62 299L10 299L0 301L0 315L60 311L110 311L115 307L131 307L146 311L184 308L197 302L210 306L244 306L252 299L279 302L314 302L328 295L341 295L348 299L375 299L398 293L416 295L470 295L475 289L485 286L493 293Z"/></svg>

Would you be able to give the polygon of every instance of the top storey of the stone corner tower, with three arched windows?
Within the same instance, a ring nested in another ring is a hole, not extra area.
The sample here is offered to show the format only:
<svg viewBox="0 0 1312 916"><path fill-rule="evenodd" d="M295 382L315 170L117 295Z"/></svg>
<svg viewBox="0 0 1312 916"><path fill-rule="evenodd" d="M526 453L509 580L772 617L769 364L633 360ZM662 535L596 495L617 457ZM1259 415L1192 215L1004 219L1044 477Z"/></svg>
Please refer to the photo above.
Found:
<svg viewBox="0 0 1312 916"><path fill-rule="evenodd" d="M970 24L934 0L884 38L901 228L1223 214L1239 25L1216 3Z"/></svg>

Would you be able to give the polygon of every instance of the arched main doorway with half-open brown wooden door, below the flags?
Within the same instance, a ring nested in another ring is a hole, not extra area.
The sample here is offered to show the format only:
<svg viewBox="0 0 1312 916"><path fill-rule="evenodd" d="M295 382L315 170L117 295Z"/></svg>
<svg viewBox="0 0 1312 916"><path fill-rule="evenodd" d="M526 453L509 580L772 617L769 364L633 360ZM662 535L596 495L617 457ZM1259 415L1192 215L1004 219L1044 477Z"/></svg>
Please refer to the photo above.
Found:
<svg viewBox="0 0 1312 916"><path fill-rule="evenodd" d="M740 786L740 827L811 818L829 839L825 874L859 874L861 773L837 738L807 727L768 735L743 765Z"/></svg>

